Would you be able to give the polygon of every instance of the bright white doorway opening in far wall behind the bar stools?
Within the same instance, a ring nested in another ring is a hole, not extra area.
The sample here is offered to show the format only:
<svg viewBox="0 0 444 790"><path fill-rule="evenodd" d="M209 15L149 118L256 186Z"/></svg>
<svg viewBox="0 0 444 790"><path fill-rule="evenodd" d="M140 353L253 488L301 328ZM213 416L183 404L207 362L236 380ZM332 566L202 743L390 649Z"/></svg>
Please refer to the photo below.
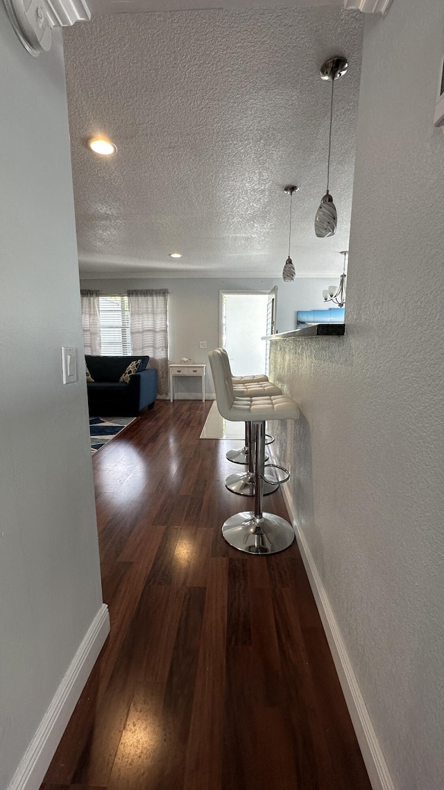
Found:
<svg viewBox="0 0 444 790"><path fill-rule="evenodd" d="M267 348L268 292L220 291L220 345L226 348L233 376L263 374Z"/></svg>

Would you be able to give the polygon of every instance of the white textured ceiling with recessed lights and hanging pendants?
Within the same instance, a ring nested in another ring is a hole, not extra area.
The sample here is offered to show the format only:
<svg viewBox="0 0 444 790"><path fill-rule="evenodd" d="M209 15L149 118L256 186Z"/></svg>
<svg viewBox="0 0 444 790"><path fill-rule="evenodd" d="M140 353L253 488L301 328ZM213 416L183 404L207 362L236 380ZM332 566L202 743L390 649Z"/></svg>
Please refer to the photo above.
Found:
<svg viewBox="0 0 444 790"><path fill-rule="evenodd" d="M140 5L140 3L138 4ZM96 276L337 275L348 248L362 15L331 6L98 16L66 28L80 269ZM337 234L314 236L330 191ZM107 134L109 159L85 145ZM170 252L183 257L173 261Z"/></svg>

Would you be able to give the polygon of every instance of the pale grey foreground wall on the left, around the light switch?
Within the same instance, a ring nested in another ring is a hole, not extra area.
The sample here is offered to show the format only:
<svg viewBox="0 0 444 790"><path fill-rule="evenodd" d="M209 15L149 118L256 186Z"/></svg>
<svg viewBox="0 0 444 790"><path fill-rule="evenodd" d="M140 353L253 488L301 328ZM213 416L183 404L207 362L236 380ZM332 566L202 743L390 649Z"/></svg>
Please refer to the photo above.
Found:
<svg viewBox="0 0 444 790"><path fill-rule="evenodd" d="M32 58L0 3L0 788L102 601L85 376L62 385L82 334L56 38Z"/></svg>

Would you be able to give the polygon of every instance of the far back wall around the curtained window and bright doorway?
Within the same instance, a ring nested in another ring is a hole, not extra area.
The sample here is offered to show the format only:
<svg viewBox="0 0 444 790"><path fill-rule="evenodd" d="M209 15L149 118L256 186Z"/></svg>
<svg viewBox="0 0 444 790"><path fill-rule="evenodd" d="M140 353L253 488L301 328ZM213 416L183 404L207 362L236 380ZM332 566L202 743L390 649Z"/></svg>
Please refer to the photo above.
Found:
<svg viewBox="0 0 444 790"><path fill-rule="evenodd" d="M339 276L337 278L339 281ZM334 278L333 278L334 281ZM332 284L322 277L305 277L294 283L283 280L233 277L197 278L143 278L143 279L85 279L82 288L97 288L103 294L126 293L128 288L167 288L168 335L170 360L178 362L183 356L196 363L208 363L208 352L217 348L219 339L219 292L220 291L271 291L277 285L277 329L287 332L295 329L297 310L322 310L325 305L322 290ZM199 340L206 341L206 349L199 348ZM193 394L199 397L200 379L190 381L175 379L175 393L179 397ZM205 373L205 391L214 393L209 365ZM213 396L214 397L214 396Z"/></svg>

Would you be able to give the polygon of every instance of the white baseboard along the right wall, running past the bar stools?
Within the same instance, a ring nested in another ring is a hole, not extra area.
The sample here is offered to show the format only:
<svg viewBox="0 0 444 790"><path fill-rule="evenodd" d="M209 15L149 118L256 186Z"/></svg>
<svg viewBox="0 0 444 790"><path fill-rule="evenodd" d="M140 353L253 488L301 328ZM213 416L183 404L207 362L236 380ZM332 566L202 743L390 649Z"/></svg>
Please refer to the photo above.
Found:
<svg viewBox="0 0 444 790"><path fill-rule="evenodd" d="M310 552L310 547L302 529L299 528L295 503L292 501L288 486L282 486L281 491L284 495L284 502L287 506L293 529L295 530L299 551L302 555L314 600L322 619L322 626L324 626L325 636L329 642L329 649L333 656L334 665L344 693L345 702L347 703L348 713L350 713L353 728L356 732L359 748L363 755L363 761L367 768L371 787L373 790L396 790L393 778L389 772L389 766L387 766L386 758L378 741L378 736L371 723L367 705L359 689L359 683L344 645L341 631L333 615L321 577L318 574L313 555Z"/></svg>

